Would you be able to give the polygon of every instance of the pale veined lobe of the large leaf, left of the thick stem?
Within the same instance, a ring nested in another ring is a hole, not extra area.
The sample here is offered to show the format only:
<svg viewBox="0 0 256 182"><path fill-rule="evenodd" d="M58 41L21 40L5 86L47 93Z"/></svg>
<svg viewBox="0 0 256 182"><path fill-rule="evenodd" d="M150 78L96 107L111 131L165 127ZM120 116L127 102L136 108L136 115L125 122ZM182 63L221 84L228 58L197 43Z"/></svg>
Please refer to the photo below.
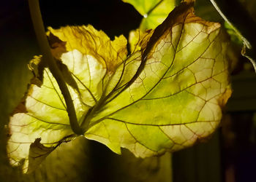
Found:
<svg viewBox="0 0 256 182"><path fill-rule="evenodd" d="M85 106L80 104L78 98L75 98L76 94L71 87L70 91L72 91L75 108L80 117L79 111ZM34 162L29 160L30 157L33 158L31 152L34 151L31 149L33 147L31 143L38 146L38 138L41 138L41 143L53 151L53 147L64 141L64 138L72 136L72 130L69 126L64 98L48 69L44 71L41 87L37 84L30 85L26 94L25 106L26 111L18 112L10 118L11 137L8 141L7 151L12 165L19 165L20 161L23 161L23 170L27 171L29 167L31 172L42 162L39 159ZM40 155L40 158L46 157L50 151Z"/></svg>

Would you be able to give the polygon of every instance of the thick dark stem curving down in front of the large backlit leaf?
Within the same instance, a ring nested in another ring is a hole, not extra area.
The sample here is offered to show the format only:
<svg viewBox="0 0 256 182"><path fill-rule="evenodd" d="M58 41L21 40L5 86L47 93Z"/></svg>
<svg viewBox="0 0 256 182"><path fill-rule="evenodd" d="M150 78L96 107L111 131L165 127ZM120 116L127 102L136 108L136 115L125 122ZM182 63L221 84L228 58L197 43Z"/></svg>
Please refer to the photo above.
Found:
<svg viewBox="0 0 256 182"><path fill-rule="evenodd" d="M39 8L38 0L29 0L29 10L31 14L31 19L34 25L34 31L37 36L37 41L42 51L42 61L45 61L46 65L49 67L50 72L53 74L56 82L59 85L59 89L64 97L64 100L67 105L67 113L69 116L69 123L71 129L77 135L83 135L83 130L80 128L78 124L78 119L75 114L75 107L73 105L73 100L67 88L67 84L64 81L63 75L61 71L59 71L58 66L56 65L56 60L54 60L53 55L50 52L50 46L48 43L48 39L45 34L45 27L42 23L42 15Z"/></svg>

